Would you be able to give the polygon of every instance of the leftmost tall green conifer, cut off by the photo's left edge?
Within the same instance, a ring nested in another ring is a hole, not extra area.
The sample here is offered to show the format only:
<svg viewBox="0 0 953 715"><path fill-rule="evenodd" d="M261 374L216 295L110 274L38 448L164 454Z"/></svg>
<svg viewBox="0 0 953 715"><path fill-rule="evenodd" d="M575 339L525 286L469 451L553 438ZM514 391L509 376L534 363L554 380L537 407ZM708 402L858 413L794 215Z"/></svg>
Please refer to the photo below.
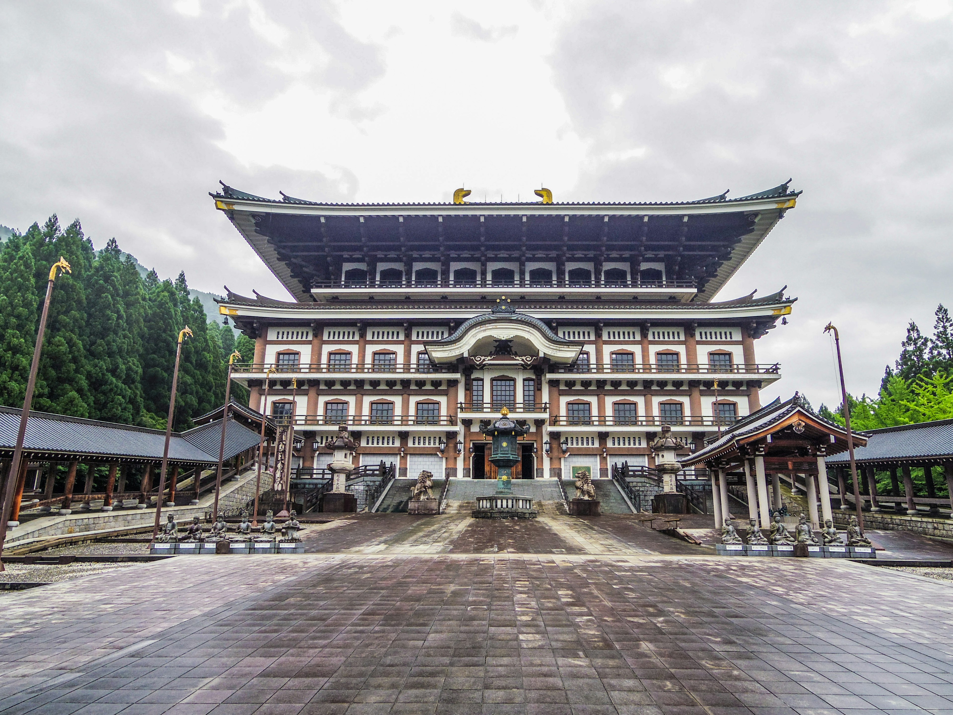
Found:
<svg viewBox="0 0 953 715"><path fill-rule="evenodd" d="M18 234L0 250L0 404L19 407L27 391L37 324L33 255Z"/></svg>

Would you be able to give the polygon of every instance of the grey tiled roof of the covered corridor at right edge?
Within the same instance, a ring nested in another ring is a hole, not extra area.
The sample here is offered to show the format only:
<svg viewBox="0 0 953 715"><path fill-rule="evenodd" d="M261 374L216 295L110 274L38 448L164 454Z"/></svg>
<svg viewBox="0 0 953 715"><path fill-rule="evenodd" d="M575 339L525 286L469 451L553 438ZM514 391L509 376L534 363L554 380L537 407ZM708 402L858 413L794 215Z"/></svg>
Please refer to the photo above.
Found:
<svg viewBox="0 0 953 715"><path fill-rule="evenodd" d="M903 424L862 432L867 446L854 450L858 462L953 459L953 419ZM849 462L846 453L828 457L828 464Z"/></svg>

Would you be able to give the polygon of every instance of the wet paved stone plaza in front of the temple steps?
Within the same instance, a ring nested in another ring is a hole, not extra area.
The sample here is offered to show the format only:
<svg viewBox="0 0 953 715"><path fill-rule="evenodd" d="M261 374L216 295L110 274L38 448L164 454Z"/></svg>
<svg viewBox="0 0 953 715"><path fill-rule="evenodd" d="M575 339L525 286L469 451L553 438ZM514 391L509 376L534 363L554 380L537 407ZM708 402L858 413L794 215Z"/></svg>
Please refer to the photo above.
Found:
<svg viewBox="0 0 953 715"><path fill-rule="evenodd" d="M305 535L302 556L3 596L0 712L953 712L943 582L720 559L622 518L369 515Z"/></svg>

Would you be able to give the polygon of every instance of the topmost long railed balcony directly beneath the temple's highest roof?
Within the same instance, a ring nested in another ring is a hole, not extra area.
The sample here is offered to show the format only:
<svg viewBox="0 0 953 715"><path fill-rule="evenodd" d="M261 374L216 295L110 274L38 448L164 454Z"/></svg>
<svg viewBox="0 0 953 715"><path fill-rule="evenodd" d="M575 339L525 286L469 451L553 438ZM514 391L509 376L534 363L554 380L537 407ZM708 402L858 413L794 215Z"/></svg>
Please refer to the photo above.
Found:
<svg viewBox="0 0 953 715"><path fill-rule="evenodd" d="M698 293L694 280L313 280L311 293L318 300L340 298L377 300L404 296L420 298L480 298L500 291L518 291L533 298L658 298L681 302Z"/></svg>

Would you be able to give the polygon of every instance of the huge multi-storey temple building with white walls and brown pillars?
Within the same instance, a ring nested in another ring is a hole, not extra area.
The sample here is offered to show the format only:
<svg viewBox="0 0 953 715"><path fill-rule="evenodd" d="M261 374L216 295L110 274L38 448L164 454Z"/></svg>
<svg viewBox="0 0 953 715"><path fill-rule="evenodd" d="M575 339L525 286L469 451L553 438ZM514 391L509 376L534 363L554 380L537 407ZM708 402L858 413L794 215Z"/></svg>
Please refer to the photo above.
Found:
<svg viewBox="0 0 953 715"><path fill-rule="evenodd" d="M458 190L450 204L327 204L223 184L215 207L294 296L221 301L255 340L235 376L251 407L294 419L305 468L346 423L361 464L495 478L479 424L502 407L532 427L515 479L652 466L663 424L688 455L781 378L755 341L795 298L714 298L794 208L789 185L671 203Z"/></svg>

